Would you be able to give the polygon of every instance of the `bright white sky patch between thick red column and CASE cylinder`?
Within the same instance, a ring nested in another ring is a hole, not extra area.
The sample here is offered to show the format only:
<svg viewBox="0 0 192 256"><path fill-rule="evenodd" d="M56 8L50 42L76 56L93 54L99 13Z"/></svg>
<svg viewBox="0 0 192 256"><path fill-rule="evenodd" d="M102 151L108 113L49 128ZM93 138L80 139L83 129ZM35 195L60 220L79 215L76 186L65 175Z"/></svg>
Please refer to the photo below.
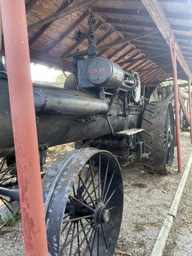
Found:
<svg viewBox="0 0 192 256"><path fill-rule="evenodd" d="M31 63L32 81L55 82L56 77L61 73L61 70Z"/></svg>

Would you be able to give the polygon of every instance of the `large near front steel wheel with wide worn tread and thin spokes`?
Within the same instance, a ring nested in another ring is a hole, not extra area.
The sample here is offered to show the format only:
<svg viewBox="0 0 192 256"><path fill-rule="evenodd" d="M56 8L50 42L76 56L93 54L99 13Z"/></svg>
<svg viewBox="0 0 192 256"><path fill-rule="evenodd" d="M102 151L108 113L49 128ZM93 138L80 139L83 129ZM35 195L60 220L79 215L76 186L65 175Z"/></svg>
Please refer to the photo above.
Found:
<svg viewBox="0 0 192 256"><path fill-rule="evenodd" d="M123 210L120 166L107 151L72 150L43 180L51 255L112 256Z"/></svg>

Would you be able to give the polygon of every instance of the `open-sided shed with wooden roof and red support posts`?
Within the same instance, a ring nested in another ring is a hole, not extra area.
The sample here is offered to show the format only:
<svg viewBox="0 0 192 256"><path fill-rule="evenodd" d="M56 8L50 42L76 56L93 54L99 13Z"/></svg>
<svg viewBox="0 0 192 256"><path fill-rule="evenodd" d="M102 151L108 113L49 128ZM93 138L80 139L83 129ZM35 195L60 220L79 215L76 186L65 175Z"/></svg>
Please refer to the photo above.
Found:
<svg viewBox="0 0 192 256"><path fill-rule="evenodd" d="M28 37L32 61L72 71L72 53L77 49L83 51L88 45L86 39L76 42L74 31L87 31L88 15L92 12L97 17L100 54L127 70L137 71L145 86L173 77L181 172L177 71L179 78L189 79L191 107L192 5L186 0L27 0L25 10L24 0L1 0L0 3L4 30L4 35L0 35L4 38L0 46L1 55L5 49L8 64L26 252L28 255L47 255ZM21 94L25 95L22 100ZM28 127L28 131L23 127ZM22 172L23 168L26 173ZM29 225L35 227L32 236Z"/></svg>

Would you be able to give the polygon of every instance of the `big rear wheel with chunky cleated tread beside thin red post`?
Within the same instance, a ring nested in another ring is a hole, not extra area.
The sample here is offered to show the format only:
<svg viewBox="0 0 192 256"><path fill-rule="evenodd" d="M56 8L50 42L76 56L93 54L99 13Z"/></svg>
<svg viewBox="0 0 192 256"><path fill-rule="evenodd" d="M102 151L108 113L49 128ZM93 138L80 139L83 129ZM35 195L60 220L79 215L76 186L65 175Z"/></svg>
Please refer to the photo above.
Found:
<svg viewBox="0 0 192 256"><path fill-rule="evenodd" d="M142 120L143 139L147 159L144 167L149 172L167 174L173 164L175 125L172 104L167 101L147 104Z"/></svg>

